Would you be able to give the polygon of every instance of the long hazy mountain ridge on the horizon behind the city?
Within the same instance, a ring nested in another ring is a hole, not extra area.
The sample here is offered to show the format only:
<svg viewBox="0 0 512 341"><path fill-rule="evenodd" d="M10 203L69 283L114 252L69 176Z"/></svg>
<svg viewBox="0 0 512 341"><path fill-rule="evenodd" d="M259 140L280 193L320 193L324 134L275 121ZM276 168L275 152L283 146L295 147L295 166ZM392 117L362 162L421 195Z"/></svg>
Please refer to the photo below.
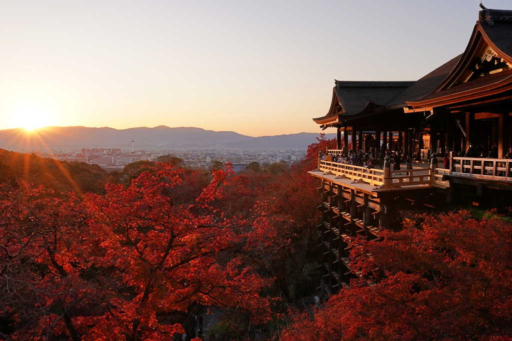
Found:
<svg viewBox="0 0 512 341"><path fill-rule="evenodd" d="M327 134L333 138L335 134ZM154 128L139 127L114 129L109 127L46 127L37 133L27 133L21 128L0 130L0 148L26 150L30 145L35 148L49 147L129 147L132 138L137 147L209 147L223 145L244 148L306 148L315 142L317 133L298 133L290 135L263 136L253 138L233 131L213 131L193 127ZM27 142L29 141L29 142ZM44 148L40 148L44 150Z"/></svg>

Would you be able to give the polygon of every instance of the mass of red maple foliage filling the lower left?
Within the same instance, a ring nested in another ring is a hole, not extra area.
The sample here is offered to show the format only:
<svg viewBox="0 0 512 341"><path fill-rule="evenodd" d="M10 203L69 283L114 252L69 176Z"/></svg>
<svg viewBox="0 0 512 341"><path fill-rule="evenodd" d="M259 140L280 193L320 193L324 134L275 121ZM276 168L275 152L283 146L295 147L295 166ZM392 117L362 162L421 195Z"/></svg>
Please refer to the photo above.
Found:
<svg viewBox="0 0 512 341"><path fill-rule="evenodd" d="M0 270L18 290L3 297L18 322L11 336L164 340L182 331L165 316L195 302L265 319L268 304L259 291L267 283L236 255L226 256L245 245L252 223L218 205L231 173L214 171L197 191L202 181L194 172L144 165L126 188L107 184L105 196L87 194L79 205L41 188L7 190ZM195 201L180 200L182 185L198 193ZM26 306L34 322L23 329Z"/></svg>

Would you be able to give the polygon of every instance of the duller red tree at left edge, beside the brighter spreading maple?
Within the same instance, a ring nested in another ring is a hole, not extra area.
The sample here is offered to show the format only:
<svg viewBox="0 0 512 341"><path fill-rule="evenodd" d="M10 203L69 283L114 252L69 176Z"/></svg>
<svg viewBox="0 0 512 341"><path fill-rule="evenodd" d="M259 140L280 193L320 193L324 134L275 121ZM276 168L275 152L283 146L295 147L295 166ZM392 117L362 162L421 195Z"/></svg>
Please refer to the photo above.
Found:
<svg viewBox="0 0 512 341"><path fill-rule="evenodd" d="M71 315L97 282L84 277L77 198L55 198L24 182L4 185L0 193L1 317L15 327L13 339L78 340Z"/></svg>

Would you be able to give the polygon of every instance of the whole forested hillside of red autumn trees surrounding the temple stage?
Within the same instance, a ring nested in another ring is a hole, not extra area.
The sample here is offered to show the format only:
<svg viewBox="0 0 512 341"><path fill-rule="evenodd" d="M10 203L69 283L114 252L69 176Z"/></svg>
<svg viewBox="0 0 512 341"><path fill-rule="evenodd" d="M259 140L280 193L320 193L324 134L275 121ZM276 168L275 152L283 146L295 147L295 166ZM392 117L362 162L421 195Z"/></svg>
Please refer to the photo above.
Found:
<svg viewBox="0 0 512 341"><path fill-rule="evenodd" d="M512 225L495 212L405 212L380 241L352 238L361 279L304 309L321 280L307 171L333 144L237 175L2 150L0 339L170 340L198 303L223 311L212 340L512 336Z"/></svg>

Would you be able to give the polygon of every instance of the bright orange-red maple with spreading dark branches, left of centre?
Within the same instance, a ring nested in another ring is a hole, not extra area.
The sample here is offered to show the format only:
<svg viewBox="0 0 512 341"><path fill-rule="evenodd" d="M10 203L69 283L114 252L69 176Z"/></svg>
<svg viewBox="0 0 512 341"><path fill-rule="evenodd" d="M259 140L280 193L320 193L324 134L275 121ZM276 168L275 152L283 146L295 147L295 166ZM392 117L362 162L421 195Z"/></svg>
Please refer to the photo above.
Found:
<svg viewBox="0 0 512 341"><path fill-rule="evenodd" d="M115 269L104 313L77 319L79 332L91 335L84 339L167 339L181 327L159 318L194 302L265 316L267 304L258 295L265 282L237 258L217 262L219 253L246 243L252 223L212 206L230 171L214 170L194 204L175 195L182 174L169 164L144 165L127 188L108 184L105 197L84 201L89 238L102 250L90 257Z"/></svg>

